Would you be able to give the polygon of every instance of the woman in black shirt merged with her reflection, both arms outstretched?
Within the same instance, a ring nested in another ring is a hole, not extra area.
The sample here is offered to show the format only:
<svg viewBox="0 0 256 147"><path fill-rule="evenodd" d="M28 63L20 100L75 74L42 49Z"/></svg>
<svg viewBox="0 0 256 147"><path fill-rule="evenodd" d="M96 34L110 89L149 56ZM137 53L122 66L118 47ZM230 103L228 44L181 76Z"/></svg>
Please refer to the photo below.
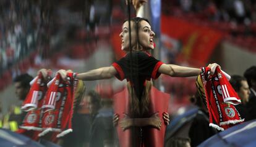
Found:
<svg viewBox="0 0 256 147"><path fill-rule="evenodd" d="M177 65L167 65L163 62L156 60L147 50L154 49L153 37L155 33L151 30L150 23L145 18L132 18L130 22L131 29L129 30L128 21L124 22L122 32L119 36L122 39L122 50L128 52L129 44L132 53L126 54L112 66L98 68L96 70L87 71L78 74L79 79L83 81L92 81L98 79L109 79L116 76L117 79L127 79L129 82L129 93L134 99L134 105L130 106L130 116L133 118L143 118L147 116L148 111L148 92L151 87L151 79L157 79L160 74L166 74L174 77L189 77L197 76L200 73L199 68L189 68ZM129 31L131 34L131 42L129 42ZM216 63L209 65L211 71L215 71ZM67 71L59 70L62 78L66 78ZM164 119L168 122L168 116L164 115ZM118 119L118 117L116 117ZM149 122L143 119L136 119L136 121L127 121L129 125L124 124L123 129L127 129L133 125L140 127L145 125L153 125L160 129L161 122L159 117L152 116ZM132 124L136 123L136 124ZM151 123L151 124L147 124Z"/></svg>

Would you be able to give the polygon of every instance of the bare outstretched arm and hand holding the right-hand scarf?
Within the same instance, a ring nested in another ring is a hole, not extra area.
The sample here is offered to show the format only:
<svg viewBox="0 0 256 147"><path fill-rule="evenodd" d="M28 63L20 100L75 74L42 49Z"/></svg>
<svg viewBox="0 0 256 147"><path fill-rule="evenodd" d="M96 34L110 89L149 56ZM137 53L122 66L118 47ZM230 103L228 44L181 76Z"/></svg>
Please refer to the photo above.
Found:
<svg viewBox="0 0 256 147"><path fill-rule="evenodd" d="M215 69L217 66L220 66L220 65L216 63L208 65L208 67L211 68L211 74L215 72ZM189 68L185 66L163 64L158 69L158 72L162 74L167 74L173 77L190 77L190 76L198 76L201 70L199 68Z"/></svg>

